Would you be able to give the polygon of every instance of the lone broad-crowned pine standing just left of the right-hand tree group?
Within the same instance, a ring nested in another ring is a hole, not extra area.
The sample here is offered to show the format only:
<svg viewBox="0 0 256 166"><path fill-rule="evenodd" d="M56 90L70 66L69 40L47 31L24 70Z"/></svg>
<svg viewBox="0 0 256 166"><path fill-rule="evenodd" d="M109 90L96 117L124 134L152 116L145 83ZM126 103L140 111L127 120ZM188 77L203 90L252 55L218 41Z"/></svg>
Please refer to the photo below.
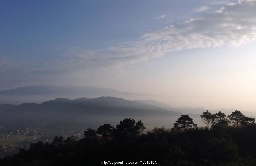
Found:
<svg viewBox="0 0 256 166"><path fill-rule="evenodd" d="M174 123L174 128L182 128L184 131L193 126L196 126L196 124L193 122L193 119L189 117L189 115L181 115L176 123Z"/></svg>

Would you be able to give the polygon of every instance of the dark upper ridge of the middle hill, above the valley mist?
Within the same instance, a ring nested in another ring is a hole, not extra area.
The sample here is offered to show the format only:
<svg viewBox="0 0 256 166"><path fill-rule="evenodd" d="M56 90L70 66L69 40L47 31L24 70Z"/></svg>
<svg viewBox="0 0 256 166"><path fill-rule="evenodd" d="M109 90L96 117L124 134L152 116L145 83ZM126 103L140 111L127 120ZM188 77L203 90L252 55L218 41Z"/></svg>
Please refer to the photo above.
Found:
<svg viewBox="0 0 256 166"><path fill-rule="evenodd" d="M52 111L60 111L60 110L68 110L68 109L75 109L77 107L81 107L82 109L88 109L87 107L90 107L90 109L96 109L96 108L104 108L104 107L110 107L110 108L126 108L126 109L141 109L144 111L160 111L160 112L171 112L166 109L163 109L161 107L157 107L154 105L148 105L148 104L141 104L135 101L126 100L123 98L117 98L117 97L98 97L98 98L77 98L77 99L68 99L68 98L56 98L55 100L49 100L46 102L42 102L41 104L36 103L22 103L19 105L13 105L13 104L1 104L0 105L0 111L2 107L5 108L24 108L26 110L35 109L35 107L38 110L52 110ZM79 108L79 109L81 109Z"/></svg>

